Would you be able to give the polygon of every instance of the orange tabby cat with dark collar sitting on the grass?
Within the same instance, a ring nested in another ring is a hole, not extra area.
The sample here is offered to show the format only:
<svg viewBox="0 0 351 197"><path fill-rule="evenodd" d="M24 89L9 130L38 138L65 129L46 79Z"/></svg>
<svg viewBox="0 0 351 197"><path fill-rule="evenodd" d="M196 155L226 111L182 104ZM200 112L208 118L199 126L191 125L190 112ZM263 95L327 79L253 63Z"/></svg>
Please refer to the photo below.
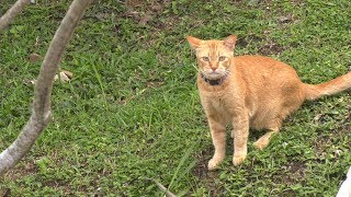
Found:
<svg viewBox="0 0 351 197"><path fill-rule="evenodd" d="M206 113L215 153L208 162L213 170L225 158L226 125L233 124L234 165L247 155L249 127L269 131L253 144L268 146L283 119L305 100L313 101L351 88L351 72L329 82L305 84L290 66L262 56L233 56L237 40L202 40L188 36L196 51L197 86Z"/></svg>

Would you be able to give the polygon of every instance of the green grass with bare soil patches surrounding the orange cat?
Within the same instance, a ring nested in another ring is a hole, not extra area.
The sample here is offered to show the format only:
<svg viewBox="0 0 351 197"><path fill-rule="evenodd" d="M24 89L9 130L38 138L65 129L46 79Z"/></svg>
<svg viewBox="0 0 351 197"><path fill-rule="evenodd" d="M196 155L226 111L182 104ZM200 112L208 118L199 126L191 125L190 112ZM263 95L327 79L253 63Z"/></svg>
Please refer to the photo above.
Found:
<svg viewBox="0 0 351 197"><path fill-rule="evenodd" d="M0 13L12 4L4 0ZM31 80L69 1L38 1L0 34L0 149L30 116ZM12 196L335 196L351 155L349 93L306 103L270 146L215 172L185 35L238 34L237 55L260 54L319 83L349 70L351 3L308 1L95 1L75 32L55 83L54 119L0 179Z"/></svg>

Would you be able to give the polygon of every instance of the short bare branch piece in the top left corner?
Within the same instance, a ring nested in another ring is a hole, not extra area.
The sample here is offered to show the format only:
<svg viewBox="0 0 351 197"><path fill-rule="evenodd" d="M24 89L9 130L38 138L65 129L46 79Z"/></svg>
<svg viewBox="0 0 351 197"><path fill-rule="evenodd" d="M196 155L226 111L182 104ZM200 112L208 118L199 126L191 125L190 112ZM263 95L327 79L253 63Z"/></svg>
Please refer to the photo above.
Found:
<svg viewBox="0 0 351 197"><path fill-rule="evenodd" d="M5 14L0 18L0 31L7 27L12 20L29 4L30 0L18 0Z"/></svg>

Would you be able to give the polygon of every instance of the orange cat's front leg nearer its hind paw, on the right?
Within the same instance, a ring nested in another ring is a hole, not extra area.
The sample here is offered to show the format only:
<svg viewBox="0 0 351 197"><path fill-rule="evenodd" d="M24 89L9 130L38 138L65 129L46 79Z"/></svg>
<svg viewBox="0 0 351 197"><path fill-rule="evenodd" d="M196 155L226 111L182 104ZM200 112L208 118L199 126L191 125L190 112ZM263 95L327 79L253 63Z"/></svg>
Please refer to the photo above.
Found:
<svg viewBox="0 0 351 197"><path fill-rule="evenodd" d="M248 153L249 117L247 115L239 114L233 118L231 135L234 138L233 164L239 165Z"/></svg>

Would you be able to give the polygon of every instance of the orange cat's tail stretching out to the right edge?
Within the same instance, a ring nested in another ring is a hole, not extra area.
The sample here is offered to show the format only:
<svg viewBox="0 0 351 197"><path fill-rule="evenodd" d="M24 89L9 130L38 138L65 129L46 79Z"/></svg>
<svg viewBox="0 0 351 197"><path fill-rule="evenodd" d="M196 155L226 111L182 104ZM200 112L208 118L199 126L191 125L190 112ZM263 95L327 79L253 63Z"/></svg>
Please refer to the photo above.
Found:
<svg viewBox="0 0 351 197"><path fill-rule="evenodd" d="M351 72L320 84L305 84L306 100L314 101L325 95L333 95L351 88Z"/></svg>

